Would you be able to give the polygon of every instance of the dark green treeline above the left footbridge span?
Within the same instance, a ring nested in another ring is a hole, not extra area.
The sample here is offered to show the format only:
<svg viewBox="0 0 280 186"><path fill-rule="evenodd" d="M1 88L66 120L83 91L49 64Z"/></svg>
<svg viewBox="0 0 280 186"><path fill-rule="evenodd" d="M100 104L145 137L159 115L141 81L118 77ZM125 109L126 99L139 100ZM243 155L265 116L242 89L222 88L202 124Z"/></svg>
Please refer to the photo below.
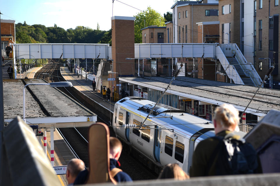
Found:
<svg viewBox="0 0 280 186"><path fill-rule="evenodd" d="M84 26L66 31L54 24L46 27L41 24L28 25L26 22L15 25L17 43L112 43L112 31L97 30Z"/></svg>

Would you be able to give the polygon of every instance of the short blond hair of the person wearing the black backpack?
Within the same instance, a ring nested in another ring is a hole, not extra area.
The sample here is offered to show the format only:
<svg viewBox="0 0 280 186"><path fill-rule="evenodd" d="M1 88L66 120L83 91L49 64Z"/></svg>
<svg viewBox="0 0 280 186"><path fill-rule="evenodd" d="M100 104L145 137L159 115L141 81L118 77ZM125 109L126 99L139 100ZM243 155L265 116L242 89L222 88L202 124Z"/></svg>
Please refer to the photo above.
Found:
<svg viewBox="0 0 280 186"><path fill-rule="evenodd" d="M235 130L238 130L239 111L231 104L222 104L220 107L217 107L215 109L214 119L223 128L232 128L237 125Z"/></svg>

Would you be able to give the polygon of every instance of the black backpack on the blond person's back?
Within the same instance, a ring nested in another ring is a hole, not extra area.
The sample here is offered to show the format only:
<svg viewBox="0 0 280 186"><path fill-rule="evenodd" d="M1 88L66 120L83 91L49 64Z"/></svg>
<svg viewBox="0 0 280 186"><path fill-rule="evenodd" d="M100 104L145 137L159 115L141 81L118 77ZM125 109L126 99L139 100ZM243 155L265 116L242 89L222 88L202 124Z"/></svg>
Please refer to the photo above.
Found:
<svg viewBox="0 0 280 186"><path fill-rule="evenodd" d="M233 134L225 137L215 136L218 146L211 155L209 163L218 156L216 175L252 174L258 168L257 153L253 146L244 139L234 139ZM209 169L208 169L209 170Z"/></svg>

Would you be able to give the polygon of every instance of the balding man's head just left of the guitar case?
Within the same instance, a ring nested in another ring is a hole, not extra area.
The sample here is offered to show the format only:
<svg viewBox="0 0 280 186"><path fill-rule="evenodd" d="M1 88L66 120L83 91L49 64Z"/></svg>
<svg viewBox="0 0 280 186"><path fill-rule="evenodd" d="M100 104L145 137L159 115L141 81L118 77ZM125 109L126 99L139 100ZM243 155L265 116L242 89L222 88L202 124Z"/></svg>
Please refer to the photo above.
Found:
<svg viewBox="0 0 280 186"><path fill-rule="evenodd" d="M85 169L85 164L82 160L74 158L67 164L66 179L68 184L74 183L78 174Z"/></svg>

